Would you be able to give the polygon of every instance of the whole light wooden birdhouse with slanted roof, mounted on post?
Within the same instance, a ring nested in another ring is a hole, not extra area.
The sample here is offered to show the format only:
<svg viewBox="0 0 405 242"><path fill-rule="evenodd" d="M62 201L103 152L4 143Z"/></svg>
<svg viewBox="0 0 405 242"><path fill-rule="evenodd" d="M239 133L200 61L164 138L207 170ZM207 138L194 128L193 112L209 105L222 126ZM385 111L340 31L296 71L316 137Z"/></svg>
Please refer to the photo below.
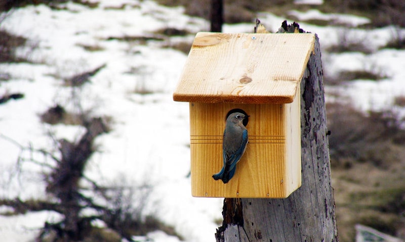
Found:
<svg viewBox="0 0 405 242"><path fill-rule="evenodd" d="M194 197L287 198L301 186L300 81L313 52L311 33L197 33L174 101L190 103ZM249 115L249 143L226 184L225 120Z"/></svg>

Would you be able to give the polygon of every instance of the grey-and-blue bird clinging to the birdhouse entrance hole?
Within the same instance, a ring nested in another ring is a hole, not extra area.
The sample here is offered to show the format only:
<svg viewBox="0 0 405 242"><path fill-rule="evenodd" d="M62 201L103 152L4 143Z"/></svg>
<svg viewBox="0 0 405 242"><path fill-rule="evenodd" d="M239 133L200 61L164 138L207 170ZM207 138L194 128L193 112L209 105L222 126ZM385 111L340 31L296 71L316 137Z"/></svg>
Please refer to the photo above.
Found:
<svg viewBox="0 0 405 242"><path fill-rule="evenodd" d="M226 119L222 143L224 166L220 172L212 176L214 180L221 179L222 182L228 183L235 174L236 163L245 153L248 144L248 130L242 123L247 117L242 113L232 113Z"/></svg>

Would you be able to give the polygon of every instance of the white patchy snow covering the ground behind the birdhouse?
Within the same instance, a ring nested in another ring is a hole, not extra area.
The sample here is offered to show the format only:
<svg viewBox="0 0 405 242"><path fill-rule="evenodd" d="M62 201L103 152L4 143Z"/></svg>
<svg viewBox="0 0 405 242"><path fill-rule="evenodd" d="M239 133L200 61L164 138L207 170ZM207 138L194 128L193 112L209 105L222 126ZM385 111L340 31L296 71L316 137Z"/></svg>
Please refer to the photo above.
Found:
<svg viewBox="0 0 405 242"><path fill-rule="evenodd" d="M86 175L100 182L114 182L121 177L134 184L147 180L154 189L145 213L155 212L186 241L213 241L218 227L215 220L222 217L223 200L191 197L187 177L190 169L188 104L172 100L187 56L160 47L176 41L175 38L146 44L108 40L109 37L150 36L154 30L166 27L196 33L207 31L209 23L184 15L182 8L167 8L152 1L98 2L100 5L95 9L72 3L59 11L44 5L29 6L13 11L1 23L0 27L29 38L28 45L35 48L21 49L19 54L29 56L37 64L0 65L0 72L12 75L12 80L0 83L0 92L25 94L22 100L0 105L0 196L46 197L41 176L36 174L37 167L26 165L22 178L12 179L20 148L3 137L10 137L23 146L32 144L36 149L53 147L47 135L49 131L58 138L78 138L83 128L47 125L39 120L38 114L57 103L73 110L71 87L62 86L62 78L106 64L91 82L77 90L84 109L91 109L94 116L113 117L112 131L96 139L100 152L92 157ZM350 21L351 26L367 22L364 18L317 11L291 14L298 21L300 18L337 19L340 23ZM258 17L270 30L278 29L284 20L268 13L260 13ZM366 31L306 24L301 27L318 34L322 49L336 44L342 31L353 38L367 39L374 50L391 37L391 28ZM226 25L223 31L252 32L253 22ZM83 45L98 46L100 50L89 52ZM340 70L376 68L387 73L389 78L380 82L359 80L343 87L331 87L330 90L342 91L344 99L362 110L390 107L395 95L405 93L404 51L383 50L370 55L322 53L322 58L325 72L331 75ZM152 93L141 94L144 90ZM58 215L41 212L0 216L0 240L29 241L46 220L58 220ZM177 240L160 232L149 236L154 241Z"/></svg>

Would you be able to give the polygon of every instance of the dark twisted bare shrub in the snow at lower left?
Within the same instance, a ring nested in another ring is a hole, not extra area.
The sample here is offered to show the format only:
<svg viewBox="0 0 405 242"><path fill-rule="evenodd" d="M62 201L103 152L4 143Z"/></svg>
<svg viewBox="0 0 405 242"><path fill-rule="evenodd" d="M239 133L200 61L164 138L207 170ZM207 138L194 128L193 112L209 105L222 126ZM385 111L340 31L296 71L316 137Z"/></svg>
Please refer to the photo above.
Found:
<svg viewBox="0 0 405 242"><path fill-rule="evenodd" d="M120 239L133 241L133 235L145 235L157 229L181 238L172 226L157 219L153 211L145 211L146 205L150 203L151 184L143 182L136 185L120 175L118 182L112 185L103 182L104 184L100 185L86 177L86 164L96 151L93 141L96 136L108 132L109 127L101 118L93 118L85 123L87 123L87 131L77 141L57 140L56 137L52 137L55 144L58 144L58 148L51 151L24 147L0 135L19 146L22 150L21 154L25 154L24 157L19 157L19 170L22 169L23 163L31 163L43 168L48 197L47 200L0 198L0 205L13 209L12 214L10 211L6 213L15 215L28 211L47 210L61 214L60 221L44 224L36 239L38 242L92 241L91 239L109 241L107 237L116 239L117 236ZM38 155L41 155L45 161L33 160L32 157L38 157ZM100 228L92 224L94 221L102 221L106 229L101 232Z"/></svg>

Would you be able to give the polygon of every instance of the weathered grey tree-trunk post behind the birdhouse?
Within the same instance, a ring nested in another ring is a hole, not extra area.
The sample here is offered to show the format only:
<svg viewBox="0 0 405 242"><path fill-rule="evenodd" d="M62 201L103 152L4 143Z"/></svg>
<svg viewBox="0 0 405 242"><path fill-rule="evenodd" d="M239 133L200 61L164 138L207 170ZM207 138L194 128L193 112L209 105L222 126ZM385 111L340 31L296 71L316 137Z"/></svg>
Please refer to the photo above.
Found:
<svg viewBox="0 0 405 242"><path fill-rule="evenodd" d="M287 199L225 199L217 241L338 241L317 37L301 81L301 148L302 186Z"/></svg>

